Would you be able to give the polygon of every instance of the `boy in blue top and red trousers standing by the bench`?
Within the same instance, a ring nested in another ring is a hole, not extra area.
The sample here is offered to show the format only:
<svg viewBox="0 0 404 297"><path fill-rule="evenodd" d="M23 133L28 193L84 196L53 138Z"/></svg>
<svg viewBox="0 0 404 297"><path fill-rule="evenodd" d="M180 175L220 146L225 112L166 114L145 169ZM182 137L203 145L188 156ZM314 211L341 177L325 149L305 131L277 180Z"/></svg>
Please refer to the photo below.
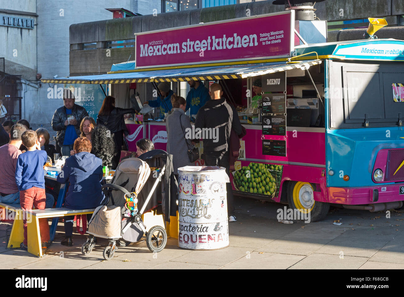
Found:
<svg viewBox="0 0 404 297"><path fill-rule="evenodd" d="M20 204L23 211L32 209L45 209L45 178L43 166L47 155L41 150L38 136L35 131L27 130L21 135L21 141L27 151L18 156L15 168L15 182L20 191ZM24 219L24 241L21 249L27 250L27 220ZM39 219L42 248L46 249L49 236L48 219Z"/></svg>

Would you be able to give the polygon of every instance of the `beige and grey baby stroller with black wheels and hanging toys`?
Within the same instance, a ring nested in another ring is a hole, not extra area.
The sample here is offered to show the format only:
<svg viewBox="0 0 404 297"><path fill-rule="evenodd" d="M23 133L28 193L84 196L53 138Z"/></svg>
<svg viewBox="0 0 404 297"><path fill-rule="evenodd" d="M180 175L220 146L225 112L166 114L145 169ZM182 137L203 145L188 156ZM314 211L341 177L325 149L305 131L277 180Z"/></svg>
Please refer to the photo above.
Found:
<svg viewBox="0 0 404 297"><path fill-rule="evenodd" d="M150 251L160 252L164 249L167 243L167 233L164 227L157 225L146 232L146 226L141 219L147 203L164 175L166 165L163 164L159 168L152 169L153 176L149 180L152 186L147 194L144 193L147 196L142 196L145 196L145 199L139 210L137 207L138 195L149 178L150 167L138 158L127 158L119 163L111 183L102 187L105 193L103 205L95 209L88 222L87 233L90 236L82 245L83 255L88 255L93 250L94 237L109 239L109 245L103 251L103 257L106 260L112 259L117 246L127 246L130 242L137 242L144 234L147 248Z"/></svg>

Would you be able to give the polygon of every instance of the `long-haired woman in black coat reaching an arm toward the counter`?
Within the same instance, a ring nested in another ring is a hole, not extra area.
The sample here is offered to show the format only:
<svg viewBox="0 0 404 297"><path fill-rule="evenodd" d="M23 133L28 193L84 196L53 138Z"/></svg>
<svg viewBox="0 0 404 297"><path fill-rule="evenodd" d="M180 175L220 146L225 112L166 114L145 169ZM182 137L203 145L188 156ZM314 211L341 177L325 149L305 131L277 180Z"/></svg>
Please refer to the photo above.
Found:
<svg viewBox="0 0 404 297"><path fill-rule="evenodd" d="M112 160L112 168L116 169L121 157L123 133L128 135L128 129L126 129L124 114L130 114L136 112L134 108L119 108L115 107L115 98L107 96L102 103L101 110L97 116L97 125L104 125L110 131L114 133L115 142L115 155Z"/></svg>

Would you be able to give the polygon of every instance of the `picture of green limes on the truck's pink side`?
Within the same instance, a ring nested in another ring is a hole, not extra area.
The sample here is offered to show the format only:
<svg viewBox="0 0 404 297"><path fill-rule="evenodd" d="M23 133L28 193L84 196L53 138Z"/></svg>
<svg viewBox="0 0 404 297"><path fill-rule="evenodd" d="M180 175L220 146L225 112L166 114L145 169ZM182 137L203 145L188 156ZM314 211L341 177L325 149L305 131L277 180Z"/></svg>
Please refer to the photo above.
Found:
<svg viewBox="0 0 404 297"><path fill-rule="evenodd" d="M241 192L269 195L276 193L275 177L269 173L264 164L250 163L233 173L235 186Z"/></svg>

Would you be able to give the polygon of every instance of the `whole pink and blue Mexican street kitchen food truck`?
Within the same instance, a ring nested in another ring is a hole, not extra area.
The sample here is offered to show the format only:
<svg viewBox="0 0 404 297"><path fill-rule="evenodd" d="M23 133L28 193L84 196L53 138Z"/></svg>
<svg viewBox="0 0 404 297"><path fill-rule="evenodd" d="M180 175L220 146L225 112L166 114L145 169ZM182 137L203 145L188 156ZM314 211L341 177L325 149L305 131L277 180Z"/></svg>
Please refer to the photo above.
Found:
<svg viewBox="0 0 404 297"><path fill-rule="evenodd" d="M95 83L169 82L186 97L190 80L219 82L247 131L235 194L288 203L311 221L331 204L402 206L404 41L327 42L326 21L296 20L293 9L135 35L136 66ZM166 148L164 121L126 125L128 154L143 137Z"/></svg>

